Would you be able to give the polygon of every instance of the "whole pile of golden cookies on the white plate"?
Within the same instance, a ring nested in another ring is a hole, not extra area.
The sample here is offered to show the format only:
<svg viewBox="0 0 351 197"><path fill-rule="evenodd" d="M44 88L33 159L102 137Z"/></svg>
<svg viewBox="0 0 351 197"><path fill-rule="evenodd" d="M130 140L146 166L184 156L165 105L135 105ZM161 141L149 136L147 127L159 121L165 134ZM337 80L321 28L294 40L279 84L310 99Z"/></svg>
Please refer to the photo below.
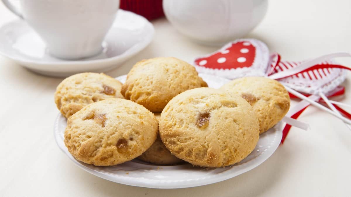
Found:
<svg viewBox="0 0 351 197"><path fill-rule="evenodd" d="M105 74L62 81L55 103L65 144L79 161L111 166L139 158L158 165L235 164L290 107L275 80L245 77L208 88L190 64L158 57L136 63L121 84Z"/></svg>

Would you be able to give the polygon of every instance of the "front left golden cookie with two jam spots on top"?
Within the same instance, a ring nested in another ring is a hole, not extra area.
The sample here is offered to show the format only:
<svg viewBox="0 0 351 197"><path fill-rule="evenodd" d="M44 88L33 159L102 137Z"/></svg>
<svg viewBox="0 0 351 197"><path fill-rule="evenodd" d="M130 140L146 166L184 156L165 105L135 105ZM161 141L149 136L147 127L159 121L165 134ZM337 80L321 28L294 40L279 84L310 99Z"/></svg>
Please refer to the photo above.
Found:
<svg viewBox="0 0 351 197"><path fill-rule="evenodd" d="M150 148L157 128L155 116L145 107L125 99L106 99L69 117L64 141L79 161L111 166Z"/></svg>

